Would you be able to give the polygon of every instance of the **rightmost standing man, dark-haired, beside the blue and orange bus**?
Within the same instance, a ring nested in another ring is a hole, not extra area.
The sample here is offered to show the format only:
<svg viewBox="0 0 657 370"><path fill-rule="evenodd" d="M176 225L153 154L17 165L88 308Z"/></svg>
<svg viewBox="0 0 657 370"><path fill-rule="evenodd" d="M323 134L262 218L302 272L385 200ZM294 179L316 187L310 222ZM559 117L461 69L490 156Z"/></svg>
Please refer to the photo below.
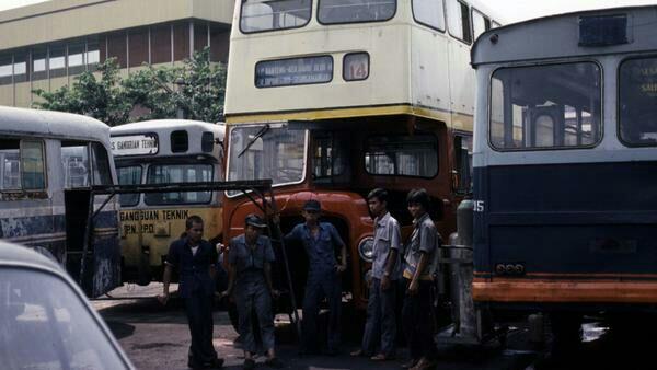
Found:
<svg viewBox="0 0 657 370"><path fill-rule="evenodd" d="M411 358L403 368L430 369L434 362L431 286L436 269L439 236L429 217L429 195L425 189L413 189L406 197L413 217L413 233L404 253L406 296L402 321Z"/></svg>

